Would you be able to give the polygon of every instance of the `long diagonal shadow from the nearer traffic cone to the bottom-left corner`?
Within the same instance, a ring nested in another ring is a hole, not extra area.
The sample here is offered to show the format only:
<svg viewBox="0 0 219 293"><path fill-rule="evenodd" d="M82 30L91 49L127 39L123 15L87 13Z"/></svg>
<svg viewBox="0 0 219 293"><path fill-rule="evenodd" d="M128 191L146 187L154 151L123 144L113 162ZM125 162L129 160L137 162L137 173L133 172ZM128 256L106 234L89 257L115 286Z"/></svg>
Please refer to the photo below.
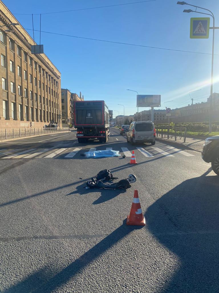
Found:
<svg viewBox="0 0 219 293"><path fill-rule="evenodd" d="M66 284L74 275L79 273L83 268L89 265L93 260L97 259L109 250L113 245L127 236L131 231L141 229L142 226L127 226L126 219L111 234L107 235L99 243L89 249L86 253L74 260L70 265L60 272L53 271L51 266L44 266L26 279L12 286L10 289L2 291L4 293L51 293L55 289ZM67 292L67 291L66 291ZM77 292L77 290L75 291Z"/></svg>

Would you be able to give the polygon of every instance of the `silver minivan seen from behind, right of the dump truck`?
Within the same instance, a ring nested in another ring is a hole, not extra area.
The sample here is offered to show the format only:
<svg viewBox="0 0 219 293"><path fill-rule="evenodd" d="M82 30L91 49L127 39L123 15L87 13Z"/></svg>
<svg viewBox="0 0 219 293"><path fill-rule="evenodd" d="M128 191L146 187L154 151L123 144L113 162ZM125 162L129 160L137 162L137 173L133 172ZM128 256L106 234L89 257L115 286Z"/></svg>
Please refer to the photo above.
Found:
<svg viewBox="0 0 219 293"><path fill-rule="evenodd" d="M151 121L133 121L127 132L127 142L131 144L150 142L152 145L155 144L156 130L154 123Z"/></svg>

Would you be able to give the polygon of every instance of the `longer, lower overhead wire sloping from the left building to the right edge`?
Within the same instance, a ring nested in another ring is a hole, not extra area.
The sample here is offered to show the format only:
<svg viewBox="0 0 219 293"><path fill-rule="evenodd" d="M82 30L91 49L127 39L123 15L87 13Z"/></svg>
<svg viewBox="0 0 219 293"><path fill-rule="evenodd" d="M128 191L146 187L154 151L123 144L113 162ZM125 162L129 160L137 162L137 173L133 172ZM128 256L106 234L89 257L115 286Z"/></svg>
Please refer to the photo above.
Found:
<svg viewBox="0 0 219 293"><path fill-rule="evenodd" d="M32 30L32 29L26 28L26 30ZM36 32L39 32L39 30L35 30L35 31ZM195 51L186 51L186 50L177 50L177 49L169 49L169 48L161 48L161 47L153 47L153 46L145 46L145 45L137 45L137 44L124 43L124 42L113 42L113 41L107 41L107 40L99 40L99 39L93 39L93 38L78 37L78 36L73 36L73 35L65 35L65 34L60 34L60 33L46 32L44 30L41 30L41 33L48 33L48 34L53 34L53 35L61 35L61 36L66 36L66 37L86 39L86 40L93 40L93 41L98 41L98 42L107 42L107 43L121 44L121 45L129 45L129 46L145 47L145 48L168 50L168 51L177 51L177 52L187 52L187 53L196 53L196 54L211 55L211 53L195 52ZM219 55L219 54L214 54L214 55Z"/></svg>

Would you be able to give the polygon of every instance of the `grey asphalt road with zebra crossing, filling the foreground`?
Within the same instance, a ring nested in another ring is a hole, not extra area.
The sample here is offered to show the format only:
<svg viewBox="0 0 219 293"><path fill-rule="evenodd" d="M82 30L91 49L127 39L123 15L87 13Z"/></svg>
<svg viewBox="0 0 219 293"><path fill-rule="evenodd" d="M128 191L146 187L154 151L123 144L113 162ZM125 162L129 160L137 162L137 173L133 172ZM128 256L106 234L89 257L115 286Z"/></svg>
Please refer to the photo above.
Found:
<svg viewBox="0 0 219 293"><path fill-rule="evenodd" d="M75 134L0 144L0 292L218 293L219 178L201 154L131 146L116 129L106 144ZM107 147L121 156L80 156ZM122 159L132 150L136 165ZM137 181L85 189L105 168ZM144 227L126 225L134 189Z"/></svg>

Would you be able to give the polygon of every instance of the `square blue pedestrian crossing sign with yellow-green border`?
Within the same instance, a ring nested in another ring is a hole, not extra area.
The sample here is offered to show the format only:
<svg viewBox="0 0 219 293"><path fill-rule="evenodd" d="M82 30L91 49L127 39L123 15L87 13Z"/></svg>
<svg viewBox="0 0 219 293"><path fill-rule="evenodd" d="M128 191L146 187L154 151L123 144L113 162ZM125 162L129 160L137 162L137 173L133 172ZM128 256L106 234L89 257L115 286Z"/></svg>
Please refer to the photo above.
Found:
<svg viewBox="0 0 219 293"><path fill-rule="evenodd" d="M210 17L192 17L190 20L190 39L208 39Z"/></svg>

